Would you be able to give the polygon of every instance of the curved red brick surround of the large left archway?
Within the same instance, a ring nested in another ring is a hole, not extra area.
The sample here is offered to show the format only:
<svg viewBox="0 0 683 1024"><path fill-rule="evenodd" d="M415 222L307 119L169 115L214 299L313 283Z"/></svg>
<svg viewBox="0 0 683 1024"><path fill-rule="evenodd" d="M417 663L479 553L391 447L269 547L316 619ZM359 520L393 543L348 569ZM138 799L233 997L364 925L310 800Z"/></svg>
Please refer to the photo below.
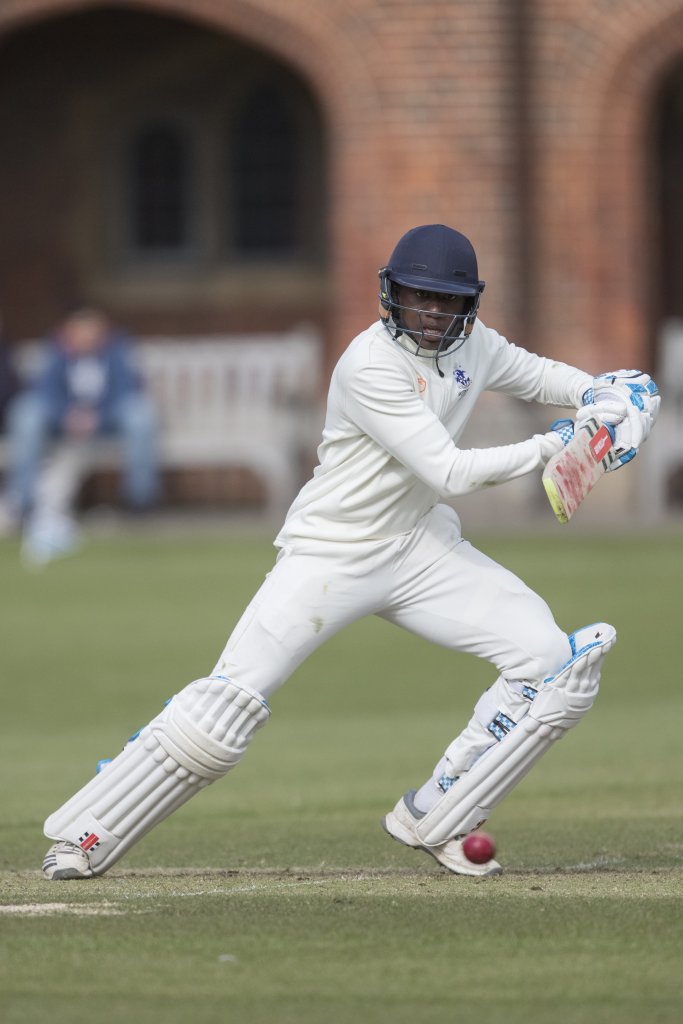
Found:
<svg viewBox="0 0 683 1024"><path fill-rule="evenodd" d="M8 0L0 7L0 35L37 20L115 6L112 0ZM341 296L368 291L376 260L368 253L369 231L385 221L380 155L373 126L379 103L367 61L350 39L330 22L325 4L292 4L283 13L250 0L126 0L160 16L178 16L236 36L270 52L306 80L317 97L328 132L330 152L330 272L331 349L339 350L357 319ZM372 211L369 222L368 211ZM355 313L357 317L357 312ZM367 318L364 317L364 319Z"/></svg>

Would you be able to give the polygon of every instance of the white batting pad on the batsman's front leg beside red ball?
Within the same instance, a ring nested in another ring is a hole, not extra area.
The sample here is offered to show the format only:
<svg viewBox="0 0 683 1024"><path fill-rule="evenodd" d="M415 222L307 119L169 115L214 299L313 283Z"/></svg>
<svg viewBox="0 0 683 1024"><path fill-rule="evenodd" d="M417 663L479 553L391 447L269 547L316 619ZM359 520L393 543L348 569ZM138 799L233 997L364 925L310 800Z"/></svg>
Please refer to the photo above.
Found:
<svg viewBox="0 0 683 1024"><path fill-rule="evenodd" d="M595 623L569 640L574 653L555 676L544 680L524 718L418 822L416 830L425 846L466 836L485 821L548 748L593 707L602 659L614 646L616 632L606 623Z"/></svg>

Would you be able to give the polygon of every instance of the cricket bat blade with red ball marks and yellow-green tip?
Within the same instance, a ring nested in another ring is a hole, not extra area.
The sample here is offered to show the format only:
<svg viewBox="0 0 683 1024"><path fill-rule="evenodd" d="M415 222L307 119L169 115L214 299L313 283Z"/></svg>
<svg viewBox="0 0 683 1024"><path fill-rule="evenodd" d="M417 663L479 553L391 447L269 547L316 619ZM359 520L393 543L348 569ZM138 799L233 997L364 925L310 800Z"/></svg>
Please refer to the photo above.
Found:
<svg viewBox="0 0 683 1024"><path fill-rule="evenodd" d="M612 435L604 423L593 417L577 427L569 443L543 471L548 501L560 522L569 521L615 458Z"/></svg>

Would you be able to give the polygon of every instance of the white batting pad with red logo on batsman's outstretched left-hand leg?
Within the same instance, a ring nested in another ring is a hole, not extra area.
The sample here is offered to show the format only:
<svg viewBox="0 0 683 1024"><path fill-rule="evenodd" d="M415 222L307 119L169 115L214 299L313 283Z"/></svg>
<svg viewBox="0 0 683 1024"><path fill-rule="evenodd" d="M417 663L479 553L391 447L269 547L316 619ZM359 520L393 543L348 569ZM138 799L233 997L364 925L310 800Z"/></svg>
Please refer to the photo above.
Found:
<svg viewBox="0 0 683 1024"><path fill-rule="evenodd" d="M242 759L270 711L230 679L198 679L176 694L45 822L49 839L84 850L102 874L145 833Z"/></svg>

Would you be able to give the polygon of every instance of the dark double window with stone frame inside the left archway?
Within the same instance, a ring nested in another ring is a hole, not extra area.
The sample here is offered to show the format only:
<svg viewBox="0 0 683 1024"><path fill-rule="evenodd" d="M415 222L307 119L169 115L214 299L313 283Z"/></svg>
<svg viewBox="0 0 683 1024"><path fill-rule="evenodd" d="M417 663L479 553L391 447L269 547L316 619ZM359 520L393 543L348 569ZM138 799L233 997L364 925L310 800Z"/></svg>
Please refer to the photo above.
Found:
<svg viewBox="0 0 683 1024"><path fill-rule="evenodd" d="M323 148L310 98L282 81L245 84L222 108L177 117L159 106L138 118L123 133L120 260L315 264Z"/></svg>

